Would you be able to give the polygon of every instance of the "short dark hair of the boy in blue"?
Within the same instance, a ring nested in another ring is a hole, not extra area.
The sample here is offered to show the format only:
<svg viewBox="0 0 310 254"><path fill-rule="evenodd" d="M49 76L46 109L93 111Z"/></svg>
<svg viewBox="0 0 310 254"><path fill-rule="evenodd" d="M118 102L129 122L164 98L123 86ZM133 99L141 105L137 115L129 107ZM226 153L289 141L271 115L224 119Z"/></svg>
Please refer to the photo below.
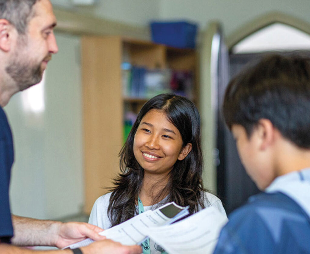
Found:
<svg viewBox="0 0 310 254"><path fill-rule="evenodd" d="M310 148L310 60L295 55L268 55L237 75L224 97L224 118L242 125L248 137L260 119L269 119L281 134Z"/></svg>

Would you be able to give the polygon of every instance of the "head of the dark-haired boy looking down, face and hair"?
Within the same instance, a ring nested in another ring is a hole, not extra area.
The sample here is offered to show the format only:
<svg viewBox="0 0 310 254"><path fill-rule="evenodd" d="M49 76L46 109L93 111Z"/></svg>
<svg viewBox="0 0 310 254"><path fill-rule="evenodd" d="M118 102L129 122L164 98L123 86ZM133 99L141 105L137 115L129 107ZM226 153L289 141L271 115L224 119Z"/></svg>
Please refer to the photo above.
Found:
<svg viewBox="0 0 310 254"><path fill-rule="evenodd" d="M232 79L223 111L248 174L259 188L266 188L281 175L277 171L283 171L274 156L278 150L281 154L284 143L274 145L276 137L290 147L310 151L309 58L264 57Z"/></svg>

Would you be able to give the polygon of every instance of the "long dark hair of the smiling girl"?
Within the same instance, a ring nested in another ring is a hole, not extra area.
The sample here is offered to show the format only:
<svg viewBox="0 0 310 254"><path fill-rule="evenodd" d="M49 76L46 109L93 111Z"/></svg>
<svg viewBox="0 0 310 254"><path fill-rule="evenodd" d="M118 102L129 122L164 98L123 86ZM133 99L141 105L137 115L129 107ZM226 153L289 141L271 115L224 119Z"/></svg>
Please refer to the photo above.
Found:
<svg viewBox="0 0 310 254"><path fill-rule="evenodd" d="M144 104L131 132L119 153L121 174L114 179L108 206L108 216L112 226L120 224L137 214L136 202L140 192L144 169L136 161L133 152L135 133L145 114L157 109L163 111L168 120L179 130L183 146L192 143L192 151L182 161L177 160L170 172L169 181L161 193L153 200L160 201L163 193L168 193L166 202L174 201L180 206L189 206L190 214L204 208L205 195L202 184L203 159L201 152L200 116L190 100L174 95L160 94Z"/></svg>

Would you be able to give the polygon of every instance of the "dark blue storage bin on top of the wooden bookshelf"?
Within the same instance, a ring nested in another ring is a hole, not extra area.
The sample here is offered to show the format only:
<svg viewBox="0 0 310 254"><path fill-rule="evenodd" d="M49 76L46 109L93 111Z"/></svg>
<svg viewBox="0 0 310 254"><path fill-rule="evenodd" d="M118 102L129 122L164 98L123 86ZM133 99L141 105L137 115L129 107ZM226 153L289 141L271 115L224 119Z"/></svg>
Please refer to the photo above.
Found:
<svg viewBox="0 0 310 254"><path fill-rule="evenodd" d="M152 41L176 48L195 48L197 25L186 21L151 22Z"/></svg>

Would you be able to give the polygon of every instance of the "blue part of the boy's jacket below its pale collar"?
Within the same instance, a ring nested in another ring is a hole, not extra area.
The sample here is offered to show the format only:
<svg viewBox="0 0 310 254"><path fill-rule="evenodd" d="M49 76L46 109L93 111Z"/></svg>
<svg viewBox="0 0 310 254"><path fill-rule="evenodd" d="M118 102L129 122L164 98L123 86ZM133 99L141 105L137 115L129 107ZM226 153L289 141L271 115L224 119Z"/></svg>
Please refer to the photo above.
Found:
<svg viewBox="0 0 310 254"><path fill-rule="evenodd" d="M283 193L255 195L229 216L214 253L310 253L310 218Z"/></svg>

